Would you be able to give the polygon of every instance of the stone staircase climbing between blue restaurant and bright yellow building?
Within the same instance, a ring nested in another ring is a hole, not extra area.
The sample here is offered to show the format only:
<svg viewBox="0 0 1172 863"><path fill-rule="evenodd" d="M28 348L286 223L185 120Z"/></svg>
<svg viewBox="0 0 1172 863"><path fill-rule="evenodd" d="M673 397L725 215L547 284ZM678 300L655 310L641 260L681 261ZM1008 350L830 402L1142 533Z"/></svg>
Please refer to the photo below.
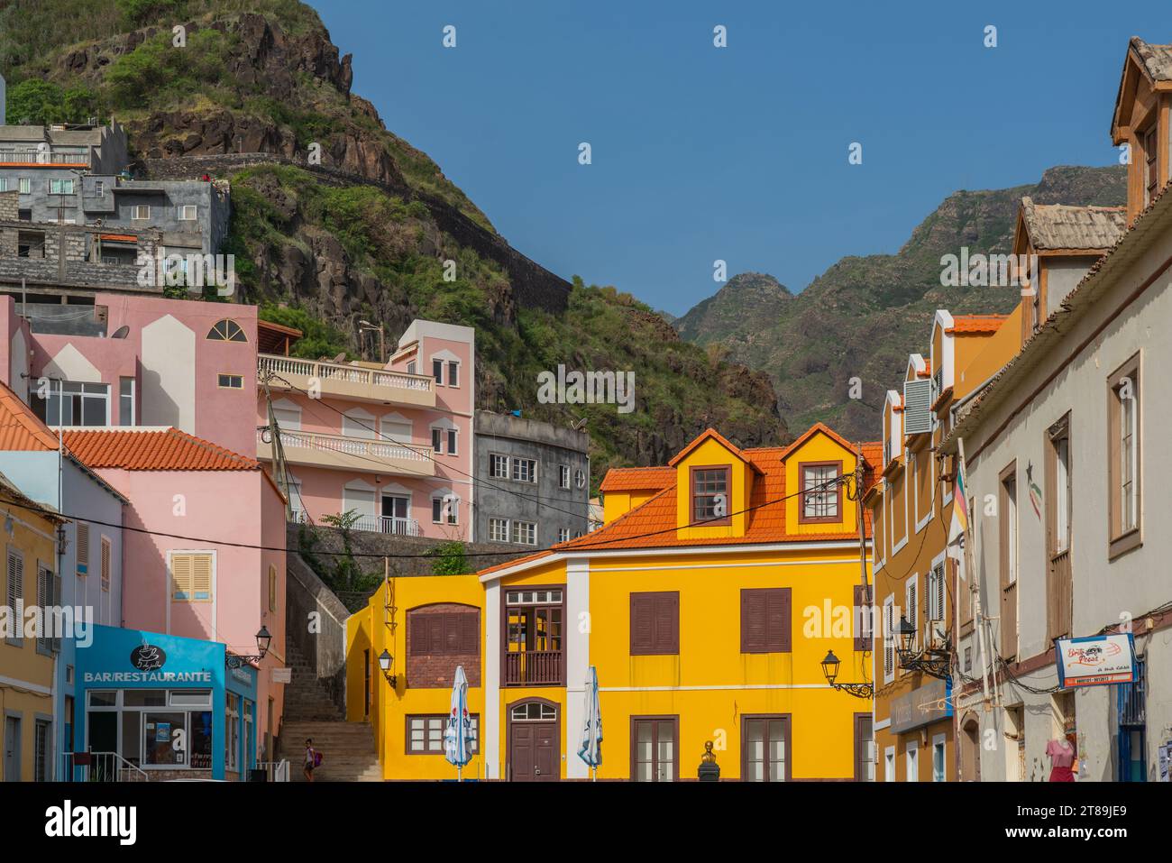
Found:
<svg viewBox="0 0 1172 863"><path fill-rule="evenodd" d="M347 722L342 712L318 682L309 660L293 641L286 644L285 664L292 679L285 686L281 752L289 761L289 781L305 782L306 738L321 752L316 782L381 782L374 729L367 722Z"/></svg>

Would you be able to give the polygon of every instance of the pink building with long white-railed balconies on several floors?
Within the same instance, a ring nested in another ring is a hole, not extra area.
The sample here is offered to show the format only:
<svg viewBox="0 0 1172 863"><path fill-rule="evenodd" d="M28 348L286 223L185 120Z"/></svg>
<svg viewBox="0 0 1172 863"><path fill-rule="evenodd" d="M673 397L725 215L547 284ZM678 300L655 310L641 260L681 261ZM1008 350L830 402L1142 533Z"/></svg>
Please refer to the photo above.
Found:
<svg viewBox="0 0 1172 863"><path fill-rule="evenodd" d="M475 538L475 329L416 320L386 363L288 356L300 333L265 321L258 337L295 518L353 510L360 530ZM263 380L258 392L266 427ZM271 464L271 432L257 436Z"/></svg>

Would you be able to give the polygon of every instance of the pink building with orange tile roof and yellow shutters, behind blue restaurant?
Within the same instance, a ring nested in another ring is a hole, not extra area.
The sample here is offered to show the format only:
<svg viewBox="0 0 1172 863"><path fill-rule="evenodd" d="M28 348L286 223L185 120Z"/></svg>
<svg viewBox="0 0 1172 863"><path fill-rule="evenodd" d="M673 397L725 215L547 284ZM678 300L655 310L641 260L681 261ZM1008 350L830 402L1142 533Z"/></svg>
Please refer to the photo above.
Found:
<svg viewBox="0 0 1172 863"><path fill-rule="evenodd" d="M175 428L71 429L66 447L123 495L123 626L258 654L257 750L280 732L285 498L253 458ZM304 625L304 621L302 621ZM261 759L264 760L264 759Z"/></svg>

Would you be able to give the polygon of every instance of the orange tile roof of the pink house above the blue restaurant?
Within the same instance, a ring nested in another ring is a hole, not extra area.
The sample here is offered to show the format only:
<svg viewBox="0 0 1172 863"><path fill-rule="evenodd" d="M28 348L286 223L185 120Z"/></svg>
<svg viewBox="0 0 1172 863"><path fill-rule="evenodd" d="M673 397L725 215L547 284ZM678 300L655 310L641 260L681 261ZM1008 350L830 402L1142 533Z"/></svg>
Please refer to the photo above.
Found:
<svg viewBox="0 0 1172 863"><path fill-rule="evenodd" d="M66 446L89 468L123 470L260 470L238 455L177 428L69 430Z"/></svg>

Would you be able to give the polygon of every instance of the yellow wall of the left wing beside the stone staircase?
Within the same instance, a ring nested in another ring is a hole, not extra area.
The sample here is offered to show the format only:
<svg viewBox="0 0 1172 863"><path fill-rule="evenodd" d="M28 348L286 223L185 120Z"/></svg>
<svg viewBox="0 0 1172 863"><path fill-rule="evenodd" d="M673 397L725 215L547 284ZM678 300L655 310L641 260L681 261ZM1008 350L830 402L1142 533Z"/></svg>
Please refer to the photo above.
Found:
<svg viewBox="0 0 1172 863"><path fill-rule="evenodd" d="M369 721L375 727L375 746L384 779L455 779L456 768L443 755L407 754L407 716L418 714L447 714L451 701L451 688L418 688L410 686L407 678L407 612L432 603L461 603L481 610L481 657L484 657L484 589L476 576L418 576L393 580L394 623L391 632L384 610L387 585L370 597L366 609L353 614L346 625L346 719L363 721L363 650L370 650L374 694L370 699ZM393 671L397 686L390 688L379 657L383 648L395 658ZM470 673L465 668L465 673ZM483 673L483 671L482 671ZM468 709L481 719L483 739L484 687L470 686ZM483 773L479 755L464 767L464 777L471 779Z"/></svg>

